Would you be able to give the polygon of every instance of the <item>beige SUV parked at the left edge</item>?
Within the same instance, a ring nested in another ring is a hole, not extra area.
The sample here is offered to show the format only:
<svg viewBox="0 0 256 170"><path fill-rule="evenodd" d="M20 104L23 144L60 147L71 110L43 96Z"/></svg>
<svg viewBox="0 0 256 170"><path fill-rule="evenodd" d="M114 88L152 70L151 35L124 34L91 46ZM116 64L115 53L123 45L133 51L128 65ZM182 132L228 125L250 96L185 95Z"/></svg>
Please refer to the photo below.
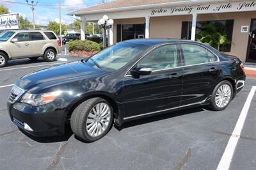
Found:
<svg viewBox="0 0 256 170"><path fill-rule="evenodd" d="M29 58L54 61L61 52L60 40L52 31L13 30L0 34L0 67L8 60Z"/></svg>

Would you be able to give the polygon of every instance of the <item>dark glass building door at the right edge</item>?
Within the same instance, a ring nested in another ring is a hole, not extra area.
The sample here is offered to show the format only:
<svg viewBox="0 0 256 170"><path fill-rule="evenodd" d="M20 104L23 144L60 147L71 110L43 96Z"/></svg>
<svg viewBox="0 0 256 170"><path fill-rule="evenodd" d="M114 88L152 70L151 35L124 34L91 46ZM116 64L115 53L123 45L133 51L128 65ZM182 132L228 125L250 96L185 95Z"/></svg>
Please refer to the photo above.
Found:
<svg viewBox="0 0 256 170"><path fill-rule="evenodd" d="M246 61L256 63L256 19L251 23Z"/></svg>

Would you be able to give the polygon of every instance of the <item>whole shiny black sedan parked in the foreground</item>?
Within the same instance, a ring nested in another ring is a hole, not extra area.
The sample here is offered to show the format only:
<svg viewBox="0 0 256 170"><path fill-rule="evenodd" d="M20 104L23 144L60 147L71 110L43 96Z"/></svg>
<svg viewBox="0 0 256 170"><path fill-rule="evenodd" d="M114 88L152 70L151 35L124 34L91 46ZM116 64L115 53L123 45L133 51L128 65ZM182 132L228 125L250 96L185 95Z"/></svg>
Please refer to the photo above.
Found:
<svg viewBox="0 0 256 170"><path fill-rule="evenodd" d="M115 123L209 105L225 109L243 89L243 63L203 43L128 40L91 58L22 77L8 98L10 117L29 134L74 134L87 142Z"/></svg>

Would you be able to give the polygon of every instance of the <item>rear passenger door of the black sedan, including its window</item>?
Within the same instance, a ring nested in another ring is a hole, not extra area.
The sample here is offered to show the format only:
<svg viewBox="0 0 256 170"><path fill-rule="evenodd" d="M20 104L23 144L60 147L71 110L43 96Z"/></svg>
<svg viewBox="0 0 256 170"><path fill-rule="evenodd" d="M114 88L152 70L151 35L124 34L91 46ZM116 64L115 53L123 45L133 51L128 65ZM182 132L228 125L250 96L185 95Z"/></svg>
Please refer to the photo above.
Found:
<svg viewBox="0 0 256 170"><path fill-rule="evenodd" d="M180 44L183 60L181 105L202 102L211 95L220 74L218 57L201 45Z"/></svg>

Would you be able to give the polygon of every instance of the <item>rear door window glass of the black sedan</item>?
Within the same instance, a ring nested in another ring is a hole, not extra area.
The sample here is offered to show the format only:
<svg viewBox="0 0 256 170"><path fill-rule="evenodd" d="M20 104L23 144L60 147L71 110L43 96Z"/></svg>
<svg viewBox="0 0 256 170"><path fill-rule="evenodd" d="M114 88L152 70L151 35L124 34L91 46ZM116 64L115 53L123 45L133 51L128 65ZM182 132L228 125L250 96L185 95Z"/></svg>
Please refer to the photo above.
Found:
<svg viewBox="0 0 256 170"><path fill-rule="evenodd" d="M202 63L210 63L218 59L212 52L198 45L182 44L182 52L185 65L198 65Z"/></svg>

